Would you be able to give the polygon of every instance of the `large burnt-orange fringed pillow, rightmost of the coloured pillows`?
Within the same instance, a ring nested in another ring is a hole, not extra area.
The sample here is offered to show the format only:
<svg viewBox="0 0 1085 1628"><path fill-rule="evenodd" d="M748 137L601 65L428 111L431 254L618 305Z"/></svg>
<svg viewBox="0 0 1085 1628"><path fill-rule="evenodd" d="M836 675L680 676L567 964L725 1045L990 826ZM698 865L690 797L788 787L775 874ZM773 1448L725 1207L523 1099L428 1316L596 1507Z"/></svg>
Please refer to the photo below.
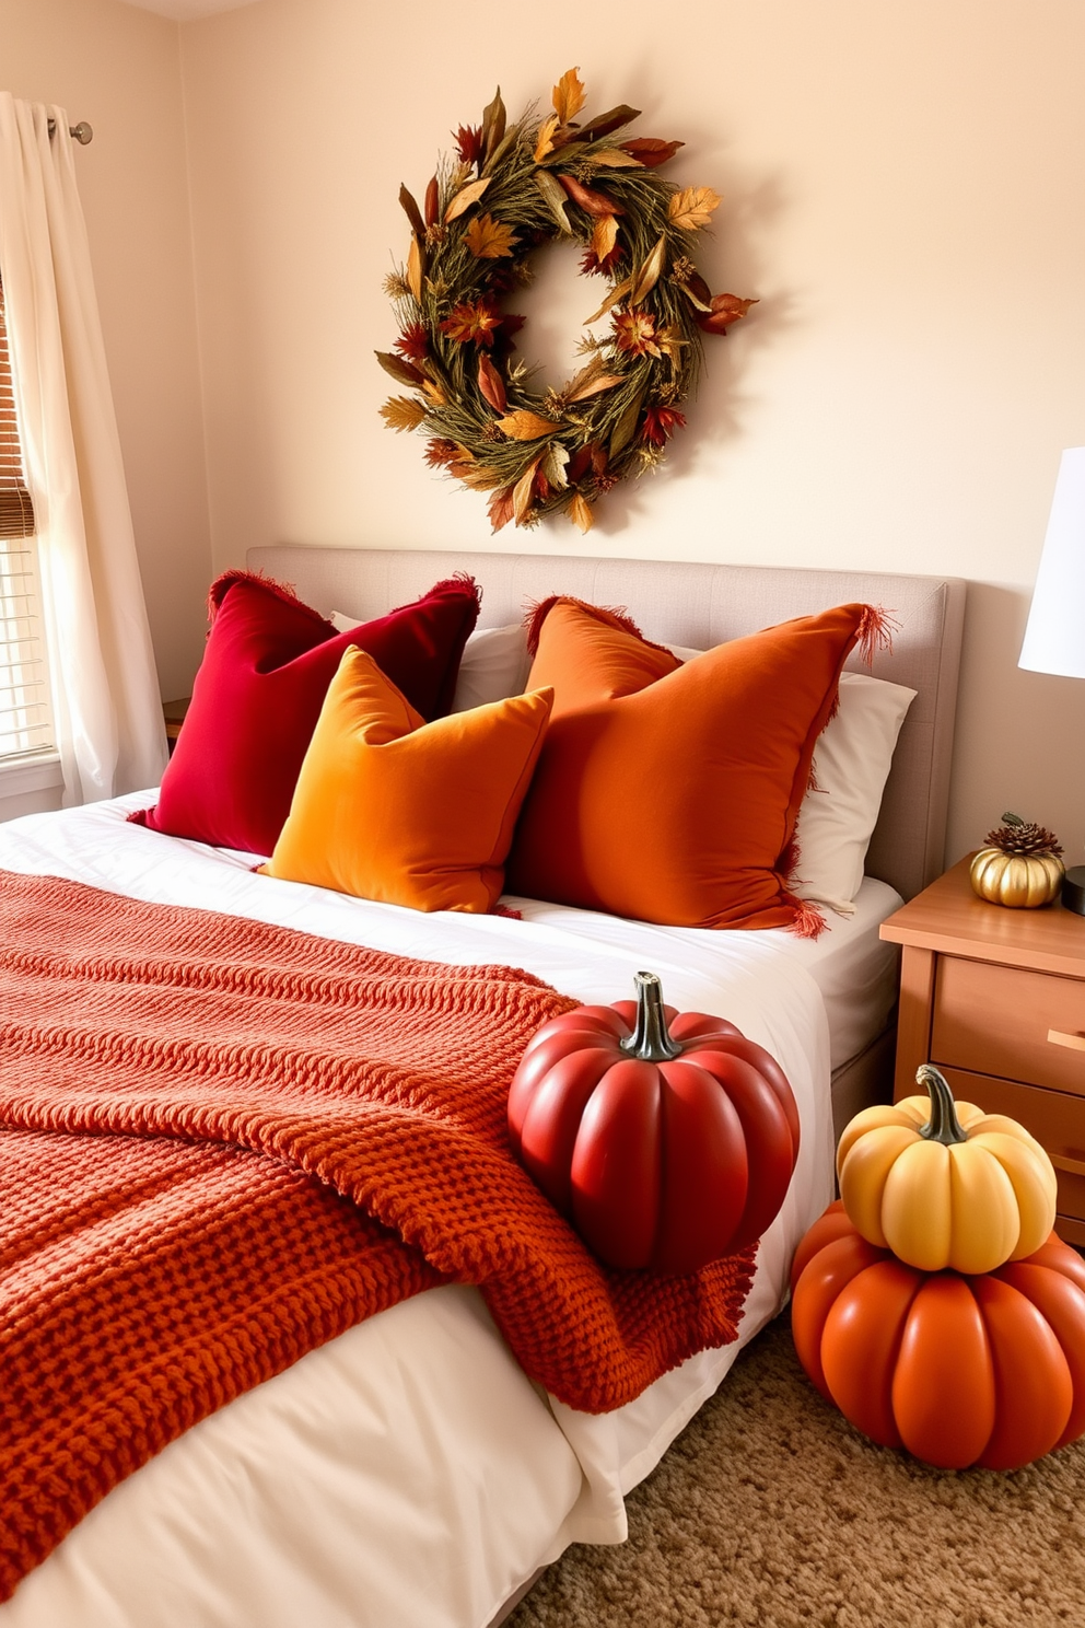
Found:
<svg viewBox="0 0 1085 1628"><path fill-rule="evenodd" d="M673 926L820 931L787 892L795 819L844 658L880 627L870 606L838 606L612 698L612 643L587 607L560 601L529 681L548 674L555 707L509 891ZM649 661L626 656L626 671Z"/></svg>

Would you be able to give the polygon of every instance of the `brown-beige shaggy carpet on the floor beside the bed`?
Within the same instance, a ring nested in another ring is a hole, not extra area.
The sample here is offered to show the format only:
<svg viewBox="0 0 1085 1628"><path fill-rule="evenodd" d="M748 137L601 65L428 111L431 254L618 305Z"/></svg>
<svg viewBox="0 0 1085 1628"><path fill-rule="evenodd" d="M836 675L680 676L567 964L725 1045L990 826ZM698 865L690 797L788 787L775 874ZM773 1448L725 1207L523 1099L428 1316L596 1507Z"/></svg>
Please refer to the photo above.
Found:
<svg viewBox="0 0 1085 1628"><path fill-rule="evenodd" d="M508 1628L1085 1628L1085 1439L1012 1475L875 1447L786 1315L628 1511L626 1543L568 1550Z"/></svg>

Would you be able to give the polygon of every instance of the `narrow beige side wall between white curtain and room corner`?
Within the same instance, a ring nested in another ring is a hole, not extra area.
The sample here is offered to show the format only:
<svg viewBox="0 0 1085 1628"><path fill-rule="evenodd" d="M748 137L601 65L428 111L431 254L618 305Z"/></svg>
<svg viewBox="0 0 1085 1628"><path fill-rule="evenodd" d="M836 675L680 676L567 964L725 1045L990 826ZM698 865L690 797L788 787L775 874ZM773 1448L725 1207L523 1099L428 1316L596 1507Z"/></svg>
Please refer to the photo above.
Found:
<svg viewBox="0 0 1085 1628"><path fill-rule="evenodd" d="M161 692L184 695L211 563L179 26L119 0L0 0L0 78L94 129L80 197Z"/></svg>

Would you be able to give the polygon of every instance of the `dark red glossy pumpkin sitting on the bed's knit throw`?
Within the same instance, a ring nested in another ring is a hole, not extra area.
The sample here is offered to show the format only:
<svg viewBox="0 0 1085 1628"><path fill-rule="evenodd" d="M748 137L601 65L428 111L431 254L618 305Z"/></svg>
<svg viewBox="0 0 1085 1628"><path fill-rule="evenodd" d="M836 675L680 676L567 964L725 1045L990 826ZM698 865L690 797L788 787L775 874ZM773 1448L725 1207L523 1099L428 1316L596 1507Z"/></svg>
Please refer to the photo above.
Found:
<svg viewBox="0 0 1085 1628"><path fill-rule="evenodd" d="M612 1267L696 1271L761 1236L799 1156L779 1063L734 1024L638 1000L577 1006L532 1035L509 1136L584 1242Z"/></svg>

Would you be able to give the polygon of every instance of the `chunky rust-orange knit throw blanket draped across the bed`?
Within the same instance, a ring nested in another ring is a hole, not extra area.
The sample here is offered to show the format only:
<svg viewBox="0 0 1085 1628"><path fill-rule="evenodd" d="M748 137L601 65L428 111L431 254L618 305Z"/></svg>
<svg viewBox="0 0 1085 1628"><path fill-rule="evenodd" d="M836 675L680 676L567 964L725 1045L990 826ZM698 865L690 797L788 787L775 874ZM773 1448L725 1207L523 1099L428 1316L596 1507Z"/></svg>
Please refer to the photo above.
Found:
<svg viewBox="0 0 1085 1628"><path fill-rule="evenodd" d="M605 1270L509 1151L573 1004L0 871L0 1599L189 1424L438 1283L590 1411L735 1338L752 1250Z"/></svg>

